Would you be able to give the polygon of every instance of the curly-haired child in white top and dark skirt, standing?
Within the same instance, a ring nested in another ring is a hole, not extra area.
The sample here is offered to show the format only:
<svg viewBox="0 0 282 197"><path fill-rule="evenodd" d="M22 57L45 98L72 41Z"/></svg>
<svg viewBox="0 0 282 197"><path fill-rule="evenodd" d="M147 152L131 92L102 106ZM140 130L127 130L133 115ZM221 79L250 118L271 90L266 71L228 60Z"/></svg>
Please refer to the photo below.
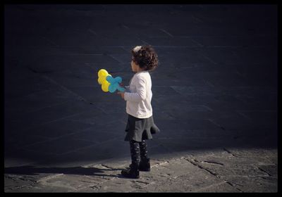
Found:
<svg viewBox="0 0 282 197"><path fill-rule="evenodd" d="M131 69L136 72L130 80L130 86L125 92L118 92L126 101L128 122L125 141L130 143L131 165L122 170L123 177L139 178L140 171L150 171L145 139L152 139L152 134L159 132L154 124L152 113L152 81L149 70L158 65L158 56L152 46L135 46L131 50L133 55Z"/></svg>

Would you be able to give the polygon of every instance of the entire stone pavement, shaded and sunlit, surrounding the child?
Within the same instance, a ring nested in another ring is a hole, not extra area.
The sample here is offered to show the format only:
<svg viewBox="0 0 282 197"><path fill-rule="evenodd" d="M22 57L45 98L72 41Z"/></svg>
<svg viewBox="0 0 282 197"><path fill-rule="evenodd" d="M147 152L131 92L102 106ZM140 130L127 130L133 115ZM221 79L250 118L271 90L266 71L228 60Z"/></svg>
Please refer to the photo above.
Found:
<svg viewBox="0 0 282 197"><path fill-rule="evenodd" d="M277 7L4 7L5 192L277 192ZM130 49L151 44L152 171L124 179ZM280 152L279 152L280 153Z"/></svg>

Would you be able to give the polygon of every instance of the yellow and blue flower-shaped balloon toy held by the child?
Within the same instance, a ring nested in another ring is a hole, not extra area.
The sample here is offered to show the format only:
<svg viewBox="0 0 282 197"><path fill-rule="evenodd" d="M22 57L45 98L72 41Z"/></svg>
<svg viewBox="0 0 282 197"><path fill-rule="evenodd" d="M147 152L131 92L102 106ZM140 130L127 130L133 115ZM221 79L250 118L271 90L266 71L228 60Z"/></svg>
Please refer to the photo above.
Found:
<svg viewBox="0 0 282 197"><path fill-rule="evenodd" d="M102 91L114 93L118 91L125 91L123 87L120 87L122 82L121 77L112 77L105 69L100 69L98 72L98 83L102 85Z"/></svg>

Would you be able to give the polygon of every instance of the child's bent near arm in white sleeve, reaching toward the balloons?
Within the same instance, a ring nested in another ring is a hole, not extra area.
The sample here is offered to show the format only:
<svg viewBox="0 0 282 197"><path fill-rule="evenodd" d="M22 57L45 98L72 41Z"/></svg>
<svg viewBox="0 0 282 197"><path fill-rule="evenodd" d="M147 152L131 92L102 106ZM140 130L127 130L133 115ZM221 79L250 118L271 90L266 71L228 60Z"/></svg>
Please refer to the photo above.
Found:
<svg viewBox="0 0 282 197"><path fill-rule="evenodd" d="M124 100L140 102L146 98L146 80L142 77L138 78L138 83L136 84L136 92L125 92Z"/></svg>

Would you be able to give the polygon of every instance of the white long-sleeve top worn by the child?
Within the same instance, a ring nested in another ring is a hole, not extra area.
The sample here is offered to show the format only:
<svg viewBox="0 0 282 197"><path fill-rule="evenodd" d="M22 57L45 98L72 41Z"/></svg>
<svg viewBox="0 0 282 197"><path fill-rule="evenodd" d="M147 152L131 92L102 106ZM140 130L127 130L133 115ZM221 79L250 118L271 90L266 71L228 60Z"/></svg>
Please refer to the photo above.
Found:
<svg viewBox="0 0 282 197"><path fill-rule="evenodd" d="M152 80L148 71L137 72L124 94L126 113L138 118L147 118L153 115L151 106ZM128 92L129 91L129 92Z"/></svg>

